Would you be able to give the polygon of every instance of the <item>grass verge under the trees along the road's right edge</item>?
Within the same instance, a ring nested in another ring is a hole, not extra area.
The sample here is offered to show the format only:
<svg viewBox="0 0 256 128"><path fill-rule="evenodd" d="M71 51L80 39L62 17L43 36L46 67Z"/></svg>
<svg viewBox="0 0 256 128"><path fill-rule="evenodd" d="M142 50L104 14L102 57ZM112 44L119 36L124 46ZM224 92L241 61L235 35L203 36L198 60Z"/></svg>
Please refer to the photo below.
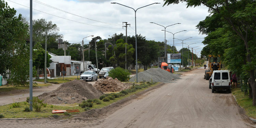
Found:
<svg viewBox="0 0 256 128"><path fill-rule="evenodd" d="M240 88L233 88L231 91L232 95L236 96L238 105L244 108L246 115L256 119L256 106L253 106L253 99L248 98L248 95L244 95Z"/></svg>

